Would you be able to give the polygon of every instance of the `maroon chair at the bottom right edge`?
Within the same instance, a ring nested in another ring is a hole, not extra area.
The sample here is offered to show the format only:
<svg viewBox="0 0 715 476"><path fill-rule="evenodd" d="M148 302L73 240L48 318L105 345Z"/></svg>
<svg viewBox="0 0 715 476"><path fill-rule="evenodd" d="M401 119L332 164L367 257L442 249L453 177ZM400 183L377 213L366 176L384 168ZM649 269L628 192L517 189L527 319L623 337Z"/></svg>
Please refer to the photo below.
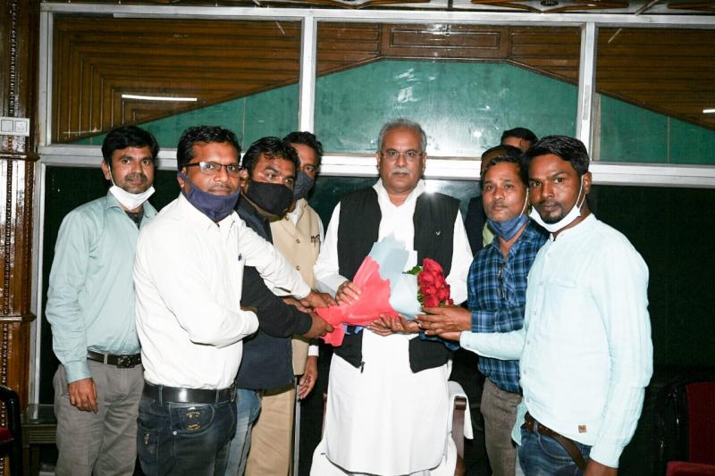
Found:
<svg viewBox="0 0 715 476"><path fill-rule="evenodd" d="M658 397L660 461L667 476L715 476L715 374L672 380Z"/></svg>

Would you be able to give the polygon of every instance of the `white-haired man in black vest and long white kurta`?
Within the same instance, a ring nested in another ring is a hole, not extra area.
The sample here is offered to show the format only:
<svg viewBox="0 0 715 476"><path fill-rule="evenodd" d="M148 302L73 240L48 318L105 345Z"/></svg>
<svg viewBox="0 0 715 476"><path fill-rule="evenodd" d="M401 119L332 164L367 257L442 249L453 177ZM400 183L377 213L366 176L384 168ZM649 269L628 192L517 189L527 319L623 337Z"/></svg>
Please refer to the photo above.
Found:
<svg viewBox="0 0 715 476"><path fill-rule="evenodd" d="M459 202L425 191L426 142L416 122L385 124L375 154L380 180L335 207L315 279L339 302L360 295L351 279L373 243L388 235L408 248L406 271L432 258L442 264L455 302L467 297L471 252ZM404 318L349 326L332 356L324 437L311 474L454 473L447 431L451 351L418 331Z"/></svg>

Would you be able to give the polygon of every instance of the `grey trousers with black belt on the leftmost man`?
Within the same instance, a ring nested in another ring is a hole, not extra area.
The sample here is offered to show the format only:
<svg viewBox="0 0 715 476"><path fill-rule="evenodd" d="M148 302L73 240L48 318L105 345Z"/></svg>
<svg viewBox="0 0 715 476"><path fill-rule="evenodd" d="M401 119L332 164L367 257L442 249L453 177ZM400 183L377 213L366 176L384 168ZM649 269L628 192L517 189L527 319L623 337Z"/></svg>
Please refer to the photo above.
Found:
<svg viewBox="0 0 715 476"><path fill-rule="evenodd" d="M97 413L70 404L67 375L55 372L57 476L128 475L137 459L137 414L144 388L144 368L118 369L88 361L97 387Z"/></svg>

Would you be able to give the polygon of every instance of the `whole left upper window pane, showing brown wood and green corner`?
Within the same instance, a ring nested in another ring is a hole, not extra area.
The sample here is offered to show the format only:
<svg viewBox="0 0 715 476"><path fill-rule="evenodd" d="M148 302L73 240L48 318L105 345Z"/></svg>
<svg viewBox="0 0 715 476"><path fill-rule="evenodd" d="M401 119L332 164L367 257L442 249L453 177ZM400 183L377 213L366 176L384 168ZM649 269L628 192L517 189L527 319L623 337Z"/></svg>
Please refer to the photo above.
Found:
<svg viewBox="0 0 715 476"><path fill-rule="evenodd" d="M54 31L55 143L98 145L139 124L175 147L183 129L211 124L247 146L298 125L299 21L57 15Z"/></svg>

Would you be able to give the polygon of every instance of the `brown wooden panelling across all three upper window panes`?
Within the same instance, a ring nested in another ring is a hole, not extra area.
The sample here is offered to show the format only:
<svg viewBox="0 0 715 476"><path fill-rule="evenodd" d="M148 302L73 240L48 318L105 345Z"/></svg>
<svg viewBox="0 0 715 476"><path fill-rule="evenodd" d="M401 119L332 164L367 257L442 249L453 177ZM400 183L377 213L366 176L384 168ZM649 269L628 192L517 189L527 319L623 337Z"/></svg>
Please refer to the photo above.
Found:
<svg viewBox="0 0 715 476"><path fill-rule="evenodd" d="M299 80L299 22L58 17L54 140L166 117ZM576 28L321 23L318 75L380 59L507 62L576 83ZM602 29L597 88L715 129L715 30ZM145 102L122 94L195 96Z"/></svg>

